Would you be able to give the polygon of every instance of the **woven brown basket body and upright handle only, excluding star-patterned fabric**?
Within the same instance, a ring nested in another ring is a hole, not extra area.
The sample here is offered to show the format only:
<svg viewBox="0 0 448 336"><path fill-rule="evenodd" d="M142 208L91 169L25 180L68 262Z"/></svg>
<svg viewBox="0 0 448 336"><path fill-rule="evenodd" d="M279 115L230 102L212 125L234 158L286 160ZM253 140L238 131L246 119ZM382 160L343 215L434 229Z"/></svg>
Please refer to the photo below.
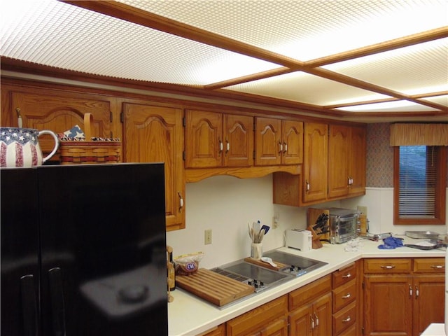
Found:
<svg viewBox="0 0 448 336"><path fill-rule="evenodd" d="M92 139L92 114L84 115L85 139ZM61 165L121 162L121 141L59 141Z"/></svg>

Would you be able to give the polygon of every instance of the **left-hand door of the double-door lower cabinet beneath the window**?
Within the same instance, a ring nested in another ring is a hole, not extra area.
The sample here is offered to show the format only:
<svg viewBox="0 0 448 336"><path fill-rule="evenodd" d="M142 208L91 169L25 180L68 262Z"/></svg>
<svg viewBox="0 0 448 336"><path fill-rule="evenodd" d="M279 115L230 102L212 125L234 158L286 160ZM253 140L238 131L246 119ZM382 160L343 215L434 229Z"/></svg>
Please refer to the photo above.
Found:
<svg viewBox="0 0 448 336"><path fill-rule="evenodd" d="M412 335L411 274L364 276L365 335Z"/></svg>

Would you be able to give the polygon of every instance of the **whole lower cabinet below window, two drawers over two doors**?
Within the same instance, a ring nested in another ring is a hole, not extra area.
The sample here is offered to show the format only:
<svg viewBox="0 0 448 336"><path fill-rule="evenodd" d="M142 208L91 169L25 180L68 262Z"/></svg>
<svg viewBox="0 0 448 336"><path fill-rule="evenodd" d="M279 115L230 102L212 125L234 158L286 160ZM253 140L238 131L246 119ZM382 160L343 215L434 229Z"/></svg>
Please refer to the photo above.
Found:
<svg viewBox="0 0 448 336"><path fill-rule="evenodd" d="M364 260L364 335L420 335L444 322L444 258Z"/></svg>

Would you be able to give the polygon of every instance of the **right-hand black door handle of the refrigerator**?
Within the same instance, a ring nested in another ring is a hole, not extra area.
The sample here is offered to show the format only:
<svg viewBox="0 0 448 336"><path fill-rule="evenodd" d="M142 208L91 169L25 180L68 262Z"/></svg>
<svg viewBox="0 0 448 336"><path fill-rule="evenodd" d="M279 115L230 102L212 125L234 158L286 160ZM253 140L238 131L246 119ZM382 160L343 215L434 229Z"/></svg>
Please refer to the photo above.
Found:
<svg viewBox="0 0 448 336"><path fill-rule="evenodd" d="M65 336L64 290L62 287L62 270L60 267L54 267L48 270L48 281L50 283L53 335Z"/></svg>

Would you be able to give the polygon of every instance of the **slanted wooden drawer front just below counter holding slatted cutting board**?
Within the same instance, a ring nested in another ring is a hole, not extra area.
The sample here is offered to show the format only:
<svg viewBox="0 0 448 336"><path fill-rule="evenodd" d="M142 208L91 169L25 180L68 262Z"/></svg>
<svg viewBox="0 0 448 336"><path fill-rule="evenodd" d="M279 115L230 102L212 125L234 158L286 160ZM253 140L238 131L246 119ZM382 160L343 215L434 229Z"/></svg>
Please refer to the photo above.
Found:
<svg viewBox="0 0 448 336"><path fill-rule="evenodd" d="M263 326L288 314L288 297L283 295L226 323L227 335L253 335Z"/></svg>

